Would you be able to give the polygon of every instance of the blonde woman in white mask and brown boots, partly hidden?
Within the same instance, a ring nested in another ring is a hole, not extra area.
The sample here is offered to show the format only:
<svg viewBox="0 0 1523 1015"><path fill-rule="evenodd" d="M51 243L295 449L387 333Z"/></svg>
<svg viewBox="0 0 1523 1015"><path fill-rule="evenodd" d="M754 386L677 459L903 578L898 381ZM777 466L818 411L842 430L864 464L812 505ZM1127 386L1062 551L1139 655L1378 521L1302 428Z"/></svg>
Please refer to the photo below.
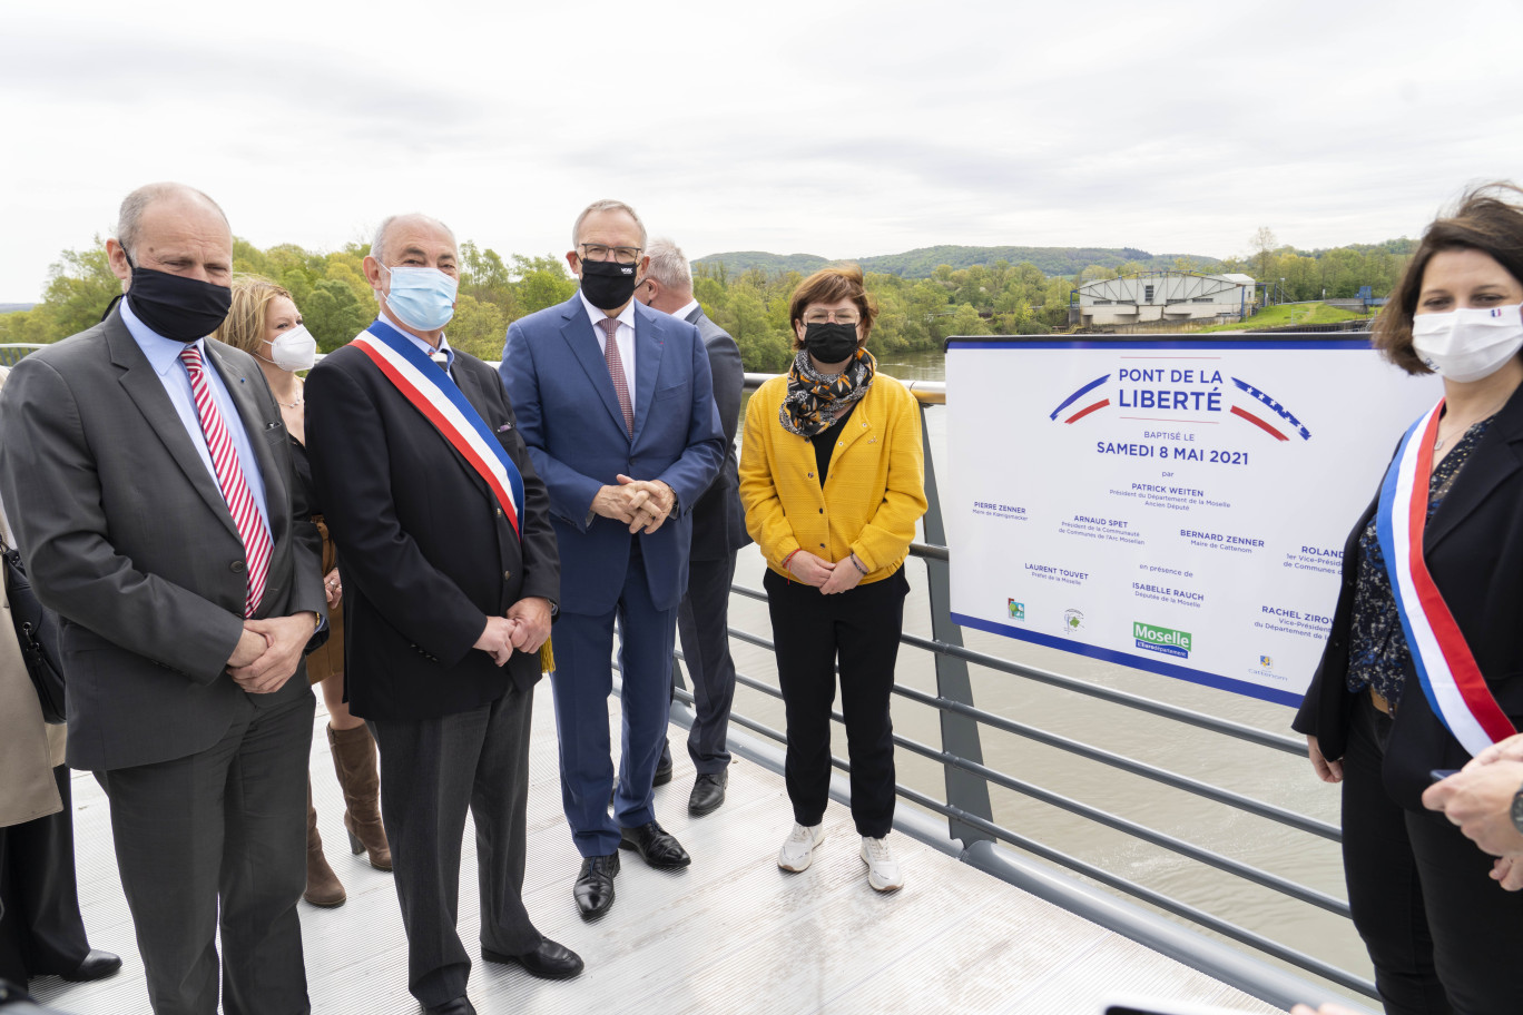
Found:
<svg viewBox="0 0 1523 1015"><path fill-rule="evenodd" d="M270 391L280 405L280 415L291 434L291 457L297 481L312 496L312 466L306 457L306 414L303 411L303 380L300 371L317 359L317 341L302 324L291 292L257 275L233 280L233 306L213 338L250 353L270 382ZM364 720L349 714L344 700L344 586L338 575L337 551L327 534L320 505L312 505L312 520L323 534L323 587L327 592L327 644L306 657L306 674L323 688L327 706L327 743L334 753L334 772L344 790L344 828L355 854L369 854L370 866L391 869L391 849L381 826L378 805L381 781L376 773L376 749ZM323 855L323 838L317 832L317 808L308 781L306 803L306 892L312 905L343 904L344 886Z"/></svg>

